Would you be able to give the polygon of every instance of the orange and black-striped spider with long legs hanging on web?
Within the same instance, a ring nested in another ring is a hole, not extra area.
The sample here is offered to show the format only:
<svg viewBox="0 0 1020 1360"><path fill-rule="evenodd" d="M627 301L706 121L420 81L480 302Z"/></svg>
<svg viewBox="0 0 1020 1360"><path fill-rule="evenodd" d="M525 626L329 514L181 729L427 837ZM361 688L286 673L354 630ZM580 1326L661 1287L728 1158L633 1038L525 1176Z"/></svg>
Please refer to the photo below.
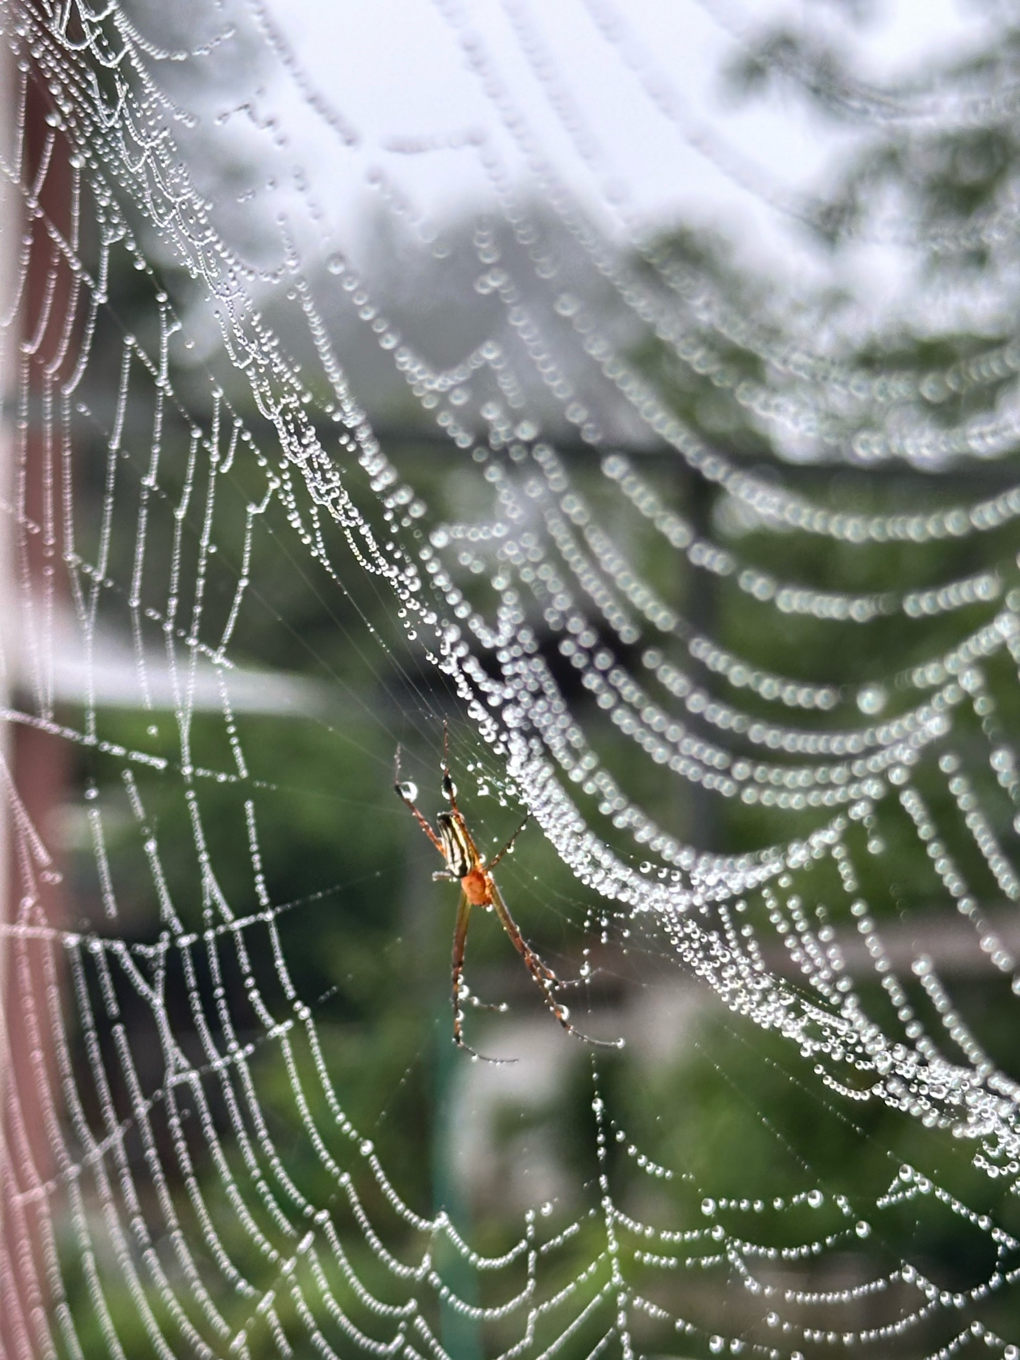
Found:
<svg viewBox="0 0 1020 1360"><path fill-rule="evenodd" d="M434 880L460 880L461 896L457 904L457 923L453 929L453 1042L458 1049L464 1049L473 1058L481 1057L481 1054L475 1053L473 1049L468 1047L464 1042L464 1008L462 1000L466 996L466 987L462 982L464 975L464 944L468 938L468 921L471 919L472 907L484 907L486 911L495 911L499 917L499 922L510 936L510 940L517 949L517 952L524 959L525 967L530 972L532 978L541 990L543 1000L554 1016L559 1020L567 1034L573 1034L575 1038L582 1039L586 1043L601 1044L602 1040L589 1039L588 1035L581 1034L570 1023L568 1010L566 1006L554 997L552 989L562 986L560 979L547 967L539 955L532 949L528 941L521 934L517 928L517 922L510 915L510 911L503 902L502 894L496 887L495 879L492 877L492 870L503 858L509 854L514 846L514 842L524 831L528 824L528 815L525 815L521 826L514 831L510 839L506 842L502 850L499 850L492 860L486 864L486 857L481 854L475 843L475 838L468 830L468 823L464 820L464 813L457 806L457 787L450 778L450 764L449 764L449 732L443 724L443 763L442 763L442 792L450 804L449 812L437 813L435 823L438 831L434 831L428 820L418 811L415 806L415 798L418 797L418 789L413 783L403 782L400 778L400 747L397 747L397 756L394 764L393 787L397 790L397 796L413 812L418 824L432 842L435 849L446 861L445 869L437 869L432 874ZM615 1046L613 1046L615 1047ZM490 1062L498 1061L494 1058L487 1059Z"/></svg>

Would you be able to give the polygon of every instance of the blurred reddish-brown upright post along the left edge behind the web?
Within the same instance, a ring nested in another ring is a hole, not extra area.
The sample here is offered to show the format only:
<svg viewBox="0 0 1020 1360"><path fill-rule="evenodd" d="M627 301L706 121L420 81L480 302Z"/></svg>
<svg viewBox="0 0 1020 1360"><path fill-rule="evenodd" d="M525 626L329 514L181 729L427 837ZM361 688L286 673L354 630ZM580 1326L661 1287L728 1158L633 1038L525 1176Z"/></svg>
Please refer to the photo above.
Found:
<svg viewBox="0 0 1020 1360"><path fill-rule="evenodd" d="M27 73L22 90L22 72L8 53L4 57L0 136L5 154L19 135L23 139L20 186L27 193L4 185L0 203L0 309L16 307L0 367L0 479L11 507L0 528L0 703L27 721L8 717L0 724L0 1356L31 1360L52 1350L46 1187L57 1168L52 1008L60 1005L63 987L54 987L54 979L63 979L63 948L57 937L31 938L27 932L65 926L60 873L48 845L69 781L67 741L31 719L52 718L46 642L64 594L57 415L69 354L61 356L71 350L67 328L78 294L50 230L71 235L68 144L52 125L53 105L38 72ZM29 639L37 643L31 651ZM26 665L27 654L33 665Z"/></svg>

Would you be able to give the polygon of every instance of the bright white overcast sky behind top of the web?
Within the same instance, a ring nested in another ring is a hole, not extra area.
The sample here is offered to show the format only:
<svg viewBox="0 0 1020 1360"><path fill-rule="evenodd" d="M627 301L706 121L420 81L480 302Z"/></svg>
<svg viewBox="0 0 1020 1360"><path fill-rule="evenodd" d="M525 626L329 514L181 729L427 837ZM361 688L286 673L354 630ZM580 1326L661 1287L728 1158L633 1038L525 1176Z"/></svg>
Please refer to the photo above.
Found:
<svg viewBox="0 0 1020 1360"><path fill-rule="evenodd" d="M628 69L628 53L597 31L582 0L514 5L552 56L552 78L578 113L588 162L522 53L502 0L267 0L311 83L359 136L354 151L344 150L292 90L271 91L268 102L279 105L347 249L352 222L364 219L381 192L379 170L426 233L484 207L491 188L479 148L465 144L472 135L528 194L526 155L468 68L461 39L471 31L543 159L604 228L626 234L627 223L718 222L752 260L764 250L768 264L782 268L793 254L802 271L804 234L767 200L786 203L824 185L855 135L809 118L792 98L728 105L718 72L738 50L741 31L782 15L798 24L808 16L842 30L858 73L881 80L911 73L930 56L963 54L982 30L981 8L966 0L876 0L862 26L846 24L831 0L756 0L745 8L729 0L613 0L635 39L630 54L647 61L645 73L665 88L676 110L670 118ZM457 30L443 10L460 12L464 26ZM703 133L730 162L730 174L691 144ZM435 150L396 150L405 144Z"/></svg>

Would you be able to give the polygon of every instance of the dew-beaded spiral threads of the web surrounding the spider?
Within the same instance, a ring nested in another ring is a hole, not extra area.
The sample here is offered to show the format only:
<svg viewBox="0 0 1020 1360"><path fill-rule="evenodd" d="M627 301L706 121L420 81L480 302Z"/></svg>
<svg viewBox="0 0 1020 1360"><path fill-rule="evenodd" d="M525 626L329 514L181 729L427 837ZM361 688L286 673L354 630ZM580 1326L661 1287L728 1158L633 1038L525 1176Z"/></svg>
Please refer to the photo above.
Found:
<svg viewBox="0 0 1020 1360"><path fill-rule="evenodd" d="M163 76L181 61L201 69L238 41L238 31L292 82L335 137L337 156L356 162L366 155L358 132L314 90L261 5L216 14L215 31L177 52L147 41L117 4L0 10L14 110L1 169L7 222L16 223L5 246L12 287L4 299L5 438L14 468L4 518L16 583L4 616L4 717L8 732L48 734L61 749L94 749L120 764L139 862L160 903L160 919L148 923L143 940L118 936L131 880L107 851L109 809L87 782L80 808L103 919L83 929L63 919L54 906L61 885L56 857L46 828L33 820L29 794L16 787L8 741L3 777L16 891L3 925L4 1344L15 1356L443 1356L453 1353L437 1322L443 1303L477 1325L487 1353L500 1356L574 1353L581 1338L578 1353L585 1355L745 1350L778 1357L812 1346L868 1345L873 1353L895 1346L915 1353L913 1336L933 1322L942 1329L940 1355L983 1345L1016 1356L1010 1338L986 1318L990 1304L1016 1287L1020 1243L994 1214L908 1164L889 1164L883 1191L866 1204L820 1187L808 1167L802 1189L786 1197L763 1186L760 1198L730 1201L692 1183L691 1221L653 1227L620 1208L611 1145L617 1142L651 1182L691 1176L656 1164L628 1140L607 1103L596 1057L596 1179L568 1212L536 1204L518 1240L486 1255L449 1216L418 1212L405 1201L373 1142L345 1114L320 1039L316 998L299 996L288 972L279 933L280 913L288 908L267 894L257 800L231 698L233 635L249 608L248 563L275 506L286 510L294 551L328 575L339 582L356 563L375 578L390 617L449 677L487 759L573 870L579 900L594 903L582 922L593 947L639 936L676 957L734 1013L806 1057L821 1099L849 1107L884 1103L945 1130L989 1182L1015 1180L1020 1166L1020 1085L968 1031L930 957L918 952L902 981L861 888L865 873L883 864L885 820L898 819L930 858L945 910L955 908L972 929L989 974L1012 979L1020 991L1020 967L998 923L1005 918L982 904L1020 898L1013 847L996 831L1001 817L987 805L982 774L990 768L1004 797L1020 801L1015 755L986 679L989 668L1001 677L1020 664L1020 585L1012 583L1012 562L936 578L923 589L903 590L895 581L870 593L792 583L687 521L662 498L641 456L619 445L622 431L641 430L690 475L721 488L759 530L796 530L849 548L902 544L919 551L979 540L1020 514L1020 488L896 514L845 513L787 491L675 415L586 298L608 290L623 314L654 332L679 364L730 392L777 445L809 438L826 452L851 430L855 454L872 461L906 457L941 465L1012 447L1012 389L994 403L989 397L981 416L952 427L934 426L922 397L923 384L981 394L1012 381L1016 341L989 345L923 382L895 370L876 374L782 339L764 311L734 314L707 276L642 239L624 209L617 226L632 235L632 249L608 243L559 184L468 16L446 0L438 10L484 90L492 128L502 129L526 166L539 196L530 201L547 214L540 220L522 201L492 150L495 135L476 139L469 152L498 214L475 233L475 287L500 321L447 370L405 343L375 303L370 283L328 226L314 178L294 160L279 124L260 118L260 95L252 94L239 117L249 131L261 128L260 135L276 139L272 154L288 167L286 193L279 185L265 190L271 208L277 193L279 238L272 252L262 252L272 258L253 261L231 245L196 188L189 116L165 90ZM594 135L534 16L517 0L507 0L506 11L578 156L598 170ZM704 148L706 137L685 118L676 92L653 79L650 58L620 16L601 0L592 0L589 11L646 94ZM976 95L966 88L957 95L956 102L947 95L940 116L976 118L975 107L983 107ZM933 116L925 98L914 99L908 90L895 103L864 87L842 97L865 120ZM982 117L1009 117L1009 98L1006 91ZM211 128L233 126L226 114L222 122L203 117ZM228 131L222 135L228 151ZM713 143L707 150L737 174L725 148ZM427 239L398 184L374 163L371 175L384 209ZM800 211L793 203L786 208ZM558 223L560 245L571 242L570 261L548 246L548 220ZM1012 218L1008 227L1015 230ZM986 233L998 241L1001 222L989 222ZM500 257L502 239L520 246L513 264ZM398 471L386 456L348 388L344 355L333 351L307 261L326 262L330 287L360 320L360 344L389 355L450 452L460 452L464 476L488 498L487 518L443 520L416 486L413 469ZM170 268L197 287L189 310L160 283ZM109 282L125 269L147 290L147 339L125 333L110 305ZM276 340L267 299L303 316L317 355L314 373ZM175 385L174 363L192 348L196 330L209 352L226 355L233 397L201 366ZM734 343L759 355L766 378L749 379L728 363L726 347ZM118 374L107 408L90 396L103 390L97 370L106 390L109 375ZM883 422L894 400L913 411L895 428ZM555 422L544 413L549 409L558 412ZM602 479L601 499L573 476L558 438L543 434L544 422L574 431L560 442L588 450L589 466ZM88 494L80 490L73 457L86 438L98 438L105 449L99 490ZM248 499L238 515L224 502L239 469ZM612 524L600 513L609 503L602 492L615 506ZM824 684L794 679L793 665L790 676L777 675L695 627L660 598L628 555L626 544L639 534L661 540L664 551L706 579L736 585L763 615L826 620L850 636L879 617L929 619L938 624L937 650L922 664L891 666L888 685L902 702L883 718L881 685L847 694L838 677ZM218 549L241 563L228 590ZM214 585L220 589L209 604ZM970 611L972 620L972 607L981 605L983 622L957 628L944 645L957 612ZM61 715L68 710L58 711L67 617L83 658L76 725ZM812 830L721 855L660 827L623 790L571 711L539 646L537 617L607 722L654 766L714 798L804 815L797 826L811 816ZM92 691L95 650L109 628L133 649L136 707L152 707L158 684L171 687L180 737L173 760L105 736ZM386 649L378 638L370 645L381 656ZM156 653L169 681L152 670ZM690 665L677 662L683 654ZM22 668L18 680L15 665ZM209 677L224 737L216 768L193 763L189 744L196 696ZM729 698L721 696L715 677ZM771 717L760 717L760 706L743 709L744 691L767 702ZM967 710L983 733L981 752L957 741ZM831 713L845 722L812 724ZM985 899L936 826L917 786L919 770L937 770L945 782L959 809L955 830L976 846L996 885ZM160 842L148 808L159 781L173 782L186 801L186 845ZM203 792L209 782L230 786L243 813L252 870L243 904L227 900L208 849ZM169 855L194 866L200 911L185 908L167 889ZM820 908L811 876L826 865L835 868L842 899ZM847 964L854 934L889 1004L891 1019L881 1024ZM775 966L777 945L787 956L783 968ZM226 972L243 979L243 1013L226 1000L233 996L223 986ZM933 1024L911 1000L918 987ZM125 994L136 1010L143 1008L147 1027L136 1031L125 1023ZM200 1051L182 1043L181 1016ZM143 1042L158 1049L158 1072L140 1057ZM288 1076L287 1138L264 1112L258 1055L267 1046L279 1051ZM325 1102L329 1110L326 1122L313 1112L313 1088L314 1108ZM197 1119L186 1119L185 1104ZM306 1141L328 1172L332 1193L325 1201L316 1202L292 1179L291 1136ZM199 1166L215 1168L215 1204ZM798 1262L853 1250L876 1225L881 1232L884 1214L917 1204L966 1221L987 1248L981 1277L966 1289L940 1288L910 1255L830 1293L797 1284ZM766 1217L768 1232L759 1228ZM575 1243L586 1234L594 1240L593 1224L597 1247L578 1265ZM486 1281L484 1303L458 1296L443 1281L435 1265L442 1251ZM669 1297L668 1289L647 1284L713 1272L741 1293L736 1323L726 1310L714 1326L691 1321L658 1302ZM72 1273L75 1289L68 1285ZM861 1325L862 1300L880 1295L888 1299L881 1319ZM811 1321L812 1308L823 1323Z"/></svg>

